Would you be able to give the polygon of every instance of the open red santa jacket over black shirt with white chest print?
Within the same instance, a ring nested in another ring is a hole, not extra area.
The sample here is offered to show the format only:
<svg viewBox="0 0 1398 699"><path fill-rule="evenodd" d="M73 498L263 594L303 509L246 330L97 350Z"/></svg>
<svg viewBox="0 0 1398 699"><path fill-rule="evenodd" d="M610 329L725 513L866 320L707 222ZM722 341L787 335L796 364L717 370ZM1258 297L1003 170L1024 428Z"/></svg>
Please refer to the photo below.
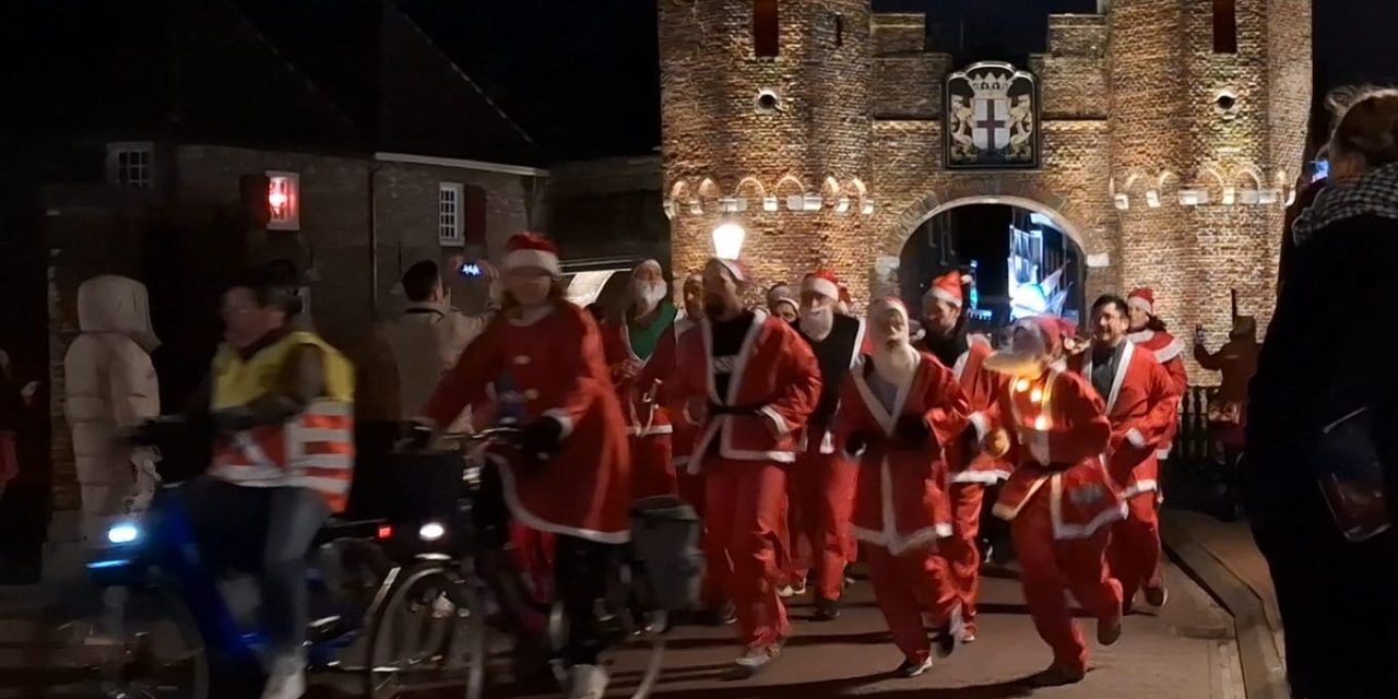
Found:
<svg viewBox="0 0 1398 699"><path fill-rule="evenodd" d="M821 369L811 347L779 317L754 310L752 324L734 358L727 396L719 396L713 373L713 330L709 320L688 331L677 348L674 390L667 386L671 411L698 428L689 473L699 473L703 456L737 461L795 461L795 436L821 397ZM685 410L689 398L751 408L752 414L705 415L695 422ZM717 440L717 442L716 442Z"/></svg>

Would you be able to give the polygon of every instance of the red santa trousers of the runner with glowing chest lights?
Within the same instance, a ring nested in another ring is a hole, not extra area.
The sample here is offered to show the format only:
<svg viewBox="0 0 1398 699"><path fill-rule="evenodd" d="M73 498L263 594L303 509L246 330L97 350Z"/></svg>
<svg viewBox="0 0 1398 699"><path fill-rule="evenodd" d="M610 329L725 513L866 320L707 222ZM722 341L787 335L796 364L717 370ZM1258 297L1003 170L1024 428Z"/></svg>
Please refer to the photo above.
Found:
<svg viewBox="0 0 1398 699"><path fill-rule="evenodd" d="M1071 591L1078 604L1099 619L1121 614L1121 583L1107 573L1111 530L1102 527L1088 538L1055 540L1048 491L1040 488L1025 503L1009 523L1009 533L1023 568L1025 603L1039 637L1053 647L1054 664L1086 672L1088 644L1072 621L1064 593Z"/></svg>

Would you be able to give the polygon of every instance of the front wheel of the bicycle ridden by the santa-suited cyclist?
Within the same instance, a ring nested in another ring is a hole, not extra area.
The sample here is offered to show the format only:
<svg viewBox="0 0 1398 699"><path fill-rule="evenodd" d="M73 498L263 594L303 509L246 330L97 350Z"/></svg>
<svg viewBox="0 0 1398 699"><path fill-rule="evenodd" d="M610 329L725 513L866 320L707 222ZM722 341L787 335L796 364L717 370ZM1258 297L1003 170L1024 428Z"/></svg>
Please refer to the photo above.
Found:
<svg viewBox="0 0 1398 699"><path fill-rule="evenodd" d="M485 691L485 615L480 597L454 570L431 563L390 573L365 628L365 695L464 686Z"/></svg>

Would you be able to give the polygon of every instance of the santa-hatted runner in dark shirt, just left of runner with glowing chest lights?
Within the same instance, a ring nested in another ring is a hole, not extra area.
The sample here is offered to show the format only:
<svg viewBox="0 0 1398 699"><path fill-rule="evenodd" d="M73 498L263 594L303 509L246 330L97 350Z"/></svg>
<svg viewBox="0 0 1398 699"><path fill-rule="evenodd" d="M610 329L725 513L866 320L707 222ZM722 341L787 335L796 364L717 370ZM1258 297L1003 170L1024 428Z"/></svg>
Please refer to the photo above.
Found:
<svg viewBox="0 0 1398 699"><path fill-rule="evenodd" d="M980 594L980 516L986 488L1009 478L1009 464L980 449L986 421L977 414L990 408L1005 386L1005 377L986 369L990 341L981 336L967 336L963 310L965 287L970 284L959 271L949 271L932 280L923 298L923 345L937 356L952 375L970 404L973 429L946 442L946 464L951 470L951 503L955 534L939 542L941 554L951 563L952 580L962 603L963 642L976 640L976 598Z"/></svg>

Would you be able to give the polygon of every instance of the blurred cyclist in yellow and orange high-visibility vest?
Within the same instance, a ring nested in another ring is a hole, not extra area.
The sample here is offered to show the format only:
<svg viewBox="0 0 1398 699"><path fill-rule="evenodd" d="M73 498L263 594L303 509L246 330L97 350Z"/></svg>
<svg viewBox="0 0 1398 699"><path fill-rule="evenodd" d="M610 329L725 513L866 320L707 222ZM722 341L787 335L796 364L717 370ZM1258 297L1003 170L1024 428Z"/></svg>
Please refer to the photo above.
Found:
<svg viewBox="0 0 1398 699"><path fill-rule="evenodd" d="M182 488L200 551L259 572L270 677L263 699L305 693L306 554L341 512L354 468L354 368L289 323L295 287L250 273L224 294L224 344L190 408L212 464Z"/></svg>

